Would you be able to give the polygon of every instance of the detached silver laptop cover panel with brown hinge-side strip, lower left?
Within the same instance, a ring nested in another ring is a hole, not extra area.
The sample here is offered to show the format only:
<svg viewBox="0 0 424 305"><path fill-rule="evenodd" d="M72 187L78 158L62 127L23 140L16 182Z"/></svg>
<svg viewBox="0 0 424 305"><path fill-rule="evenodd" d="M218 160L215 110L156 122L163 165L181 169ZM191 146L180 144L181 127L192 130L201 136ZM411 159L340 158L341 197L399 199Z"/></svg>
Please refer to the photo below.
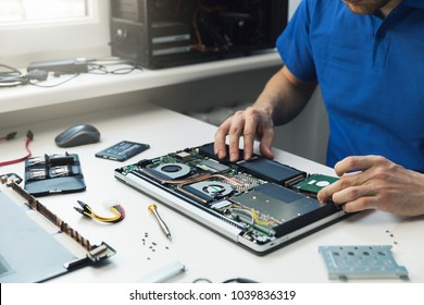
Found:
<svg viewBox="0 0 424 305"><path fill-rule="evenodd" d="M113 256L91 244L7 175L0 178L0 282L43 282Z"/></svg>

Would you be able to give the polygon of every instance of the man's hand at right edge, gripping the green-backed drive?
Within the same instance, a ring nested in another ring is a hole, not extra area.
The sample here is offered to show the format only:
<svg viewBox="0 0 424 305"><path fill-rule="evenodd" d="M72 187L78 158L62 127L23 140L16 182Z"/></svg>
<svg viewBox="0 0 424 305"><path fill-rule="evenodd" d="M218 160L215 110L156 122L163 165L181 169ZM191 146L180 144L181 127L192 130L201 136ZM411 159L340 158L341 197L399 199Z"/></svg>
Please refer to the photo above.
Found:
<svg viewBox="0 0 424 305"><path fill-rule="evenodd" d="M424 174L379 156L348 157L335 170L340 180L321 190L319 200L333 199L348 212L378 209L424 215Z"/></svg>

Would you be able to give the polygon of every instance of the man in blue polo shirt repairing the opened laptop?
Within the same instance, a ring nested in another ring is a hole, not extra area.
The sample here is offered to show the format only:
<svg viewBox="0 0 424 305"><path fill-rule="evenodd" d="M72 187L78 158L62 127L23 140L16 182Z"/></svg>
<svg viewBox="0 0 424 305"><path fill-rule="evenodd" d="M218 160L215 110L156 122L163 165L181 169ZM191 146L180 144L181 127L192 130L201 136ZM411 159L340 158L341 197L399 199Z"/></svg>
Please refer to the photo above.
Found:
<svg viewBox="0 0 424 305"><path fill-rule="evenodd" d="M273 158L274 124L294 119L320 84L329 120L327 164L341 179L323 188L347 211L424 215L424 1L303 0L277 40L285 66L252 107L228 118L215 152L245 159L259 137Z"/></svg>

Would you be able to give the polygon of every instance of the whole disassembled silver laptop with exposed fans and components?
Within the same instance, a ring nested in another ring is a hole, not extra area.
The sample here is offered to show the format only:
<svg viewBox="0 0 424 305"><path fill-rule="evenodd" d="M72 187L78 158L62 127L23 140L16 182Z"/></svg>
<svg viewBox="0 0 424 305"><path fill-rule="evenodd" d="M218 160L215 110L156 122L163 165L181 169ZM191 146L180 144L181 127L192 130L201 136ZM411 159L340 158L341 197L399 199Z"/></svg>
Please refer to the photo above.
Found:
<svg viewBox="0 0 424 305"><path fill-rule="evenodd" d="M240 149L240 156L242 150ZM115 178L257 255L265 255L346 216L317 192L337 178L254 155L230 162L213 143L117 168Z"/></svg>

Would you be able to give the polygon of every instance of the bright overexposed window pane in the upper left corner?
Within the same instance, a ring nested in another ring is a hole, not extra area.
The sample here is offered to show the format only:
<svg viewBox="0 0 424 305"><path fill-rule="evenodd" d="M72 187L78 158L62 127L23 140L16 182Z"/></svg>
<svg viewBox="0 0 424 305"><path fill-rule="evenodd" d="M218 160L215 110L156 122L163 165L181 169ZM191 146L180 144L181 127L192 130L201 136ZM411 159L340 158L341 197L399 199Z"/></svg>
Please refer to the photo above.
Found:
<svg viewBox="0 0 424 305"><path fill-rule="evenodd" d="M60 21L88 15L88 0L0 0L0 24Z"/></svg>

